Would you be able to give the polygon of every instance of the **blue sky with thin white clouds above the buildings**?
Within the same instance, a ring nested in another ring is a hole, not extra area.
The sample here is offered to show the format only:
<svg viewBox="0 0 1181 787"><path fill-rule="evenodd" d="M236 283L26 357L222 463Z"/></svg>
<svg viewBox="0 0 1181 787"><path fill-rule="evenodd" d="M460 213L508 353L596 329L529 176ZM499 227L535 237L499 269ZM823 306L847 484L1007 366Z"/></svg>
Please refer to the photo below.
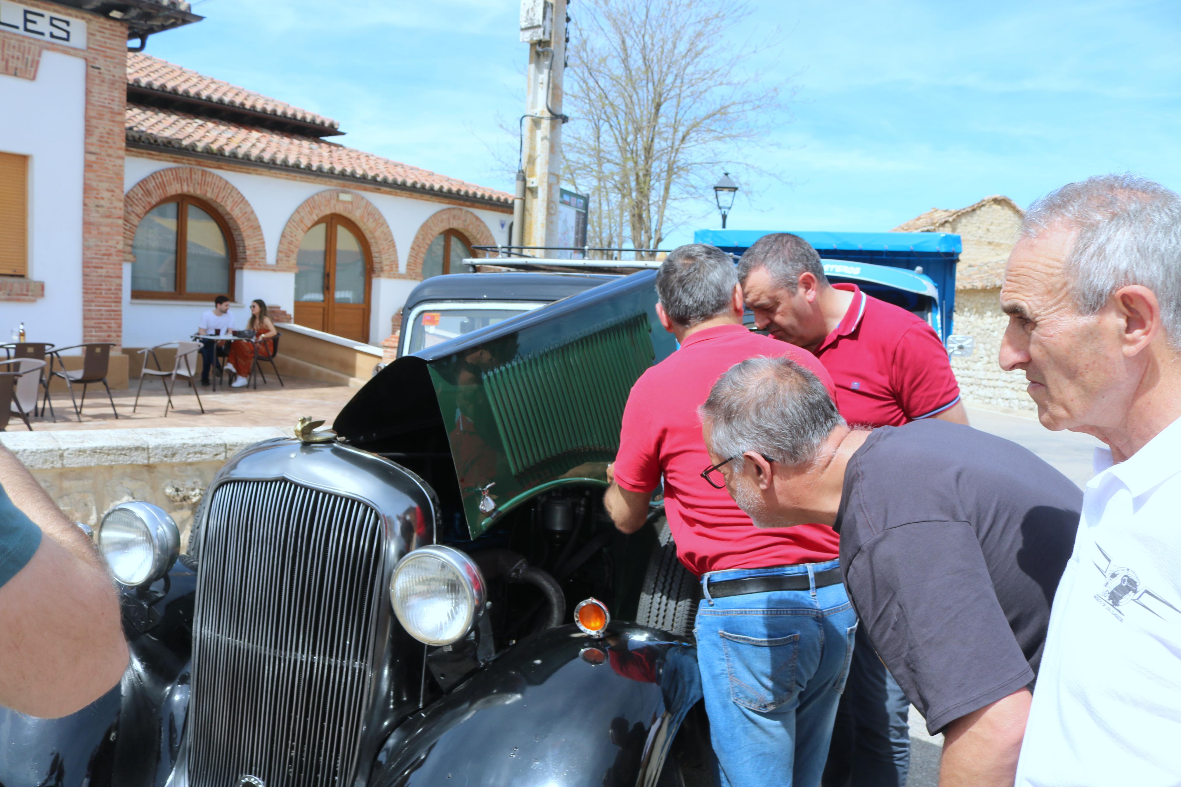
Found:
<svg viewBox="0 0 1181 787"><path fill-rule="evenodd" d="M572 0L578 20L580 6ZM1181 189L1175 2L768 0L752 63L790 79L738 229L888 230L933 206L1131 170ZM953 8L953 13L948 13ZM340 120L344 144L511 190L524 104L517 0L202 0L148 52ZM576 120L574 120L576 122ZM508 125L511 125L508 124ZM501 155L497 156L496 153ZM746 198L744 198L746 197ZM668 244L716 227L712 194Z"/></svg>

